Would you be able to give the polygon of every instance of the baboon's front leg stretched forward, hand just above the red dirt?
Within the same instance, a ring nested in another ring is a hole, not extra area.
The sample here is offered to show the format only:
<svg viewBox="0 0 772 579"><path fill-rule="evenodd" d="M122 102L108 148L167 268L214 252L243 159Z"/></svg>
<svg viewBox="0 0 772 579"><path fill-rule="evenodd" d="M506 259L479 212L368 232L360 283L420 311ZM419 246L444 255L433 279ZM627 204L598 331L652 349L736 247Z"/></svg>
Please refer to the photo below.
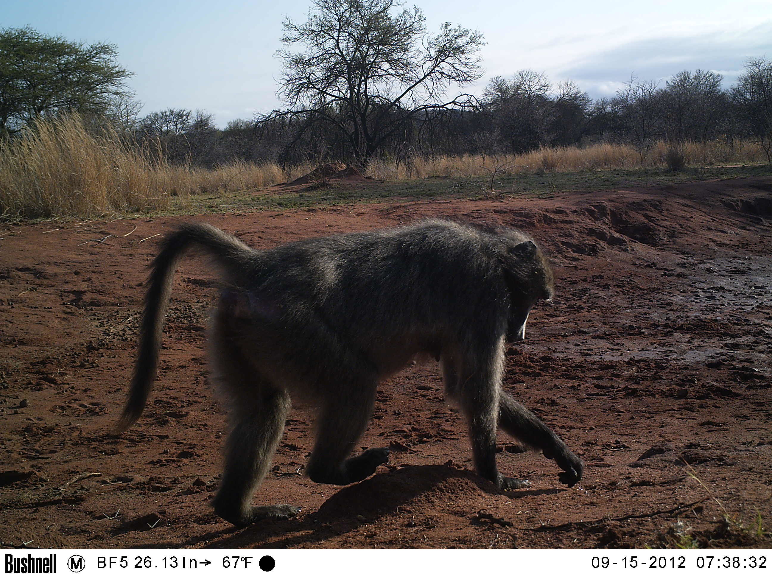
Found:
<svg viewBox="0 0 772 579"><path fill-rule="evenodd" d="M533 415L505 391L499 393L499 426L523 444L539 449L547 459L554 459L564 472L560 482L574 486L581 479L584 464L549 426Z"/></svg>

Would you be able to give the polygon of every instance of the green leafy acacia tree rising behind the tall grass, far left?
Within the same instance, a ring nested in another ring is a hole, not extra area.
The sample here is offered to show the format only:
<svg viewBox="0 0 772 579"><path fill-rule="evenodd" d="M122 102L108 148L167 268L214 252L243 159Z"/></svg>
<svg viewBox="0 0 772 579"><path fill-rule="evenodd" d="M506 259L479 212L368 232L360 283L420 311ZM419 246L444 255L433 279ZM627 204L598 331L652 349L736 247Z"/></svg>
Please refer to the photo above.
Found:
<svg viewBox="0 0 772 579"><path fill-rule="evenodd" d="M116 56L116 47L103 42L70 42L29 26L0 30L0 136L41 115L109 113L131 95L124 85L131 73Z"/></svg>

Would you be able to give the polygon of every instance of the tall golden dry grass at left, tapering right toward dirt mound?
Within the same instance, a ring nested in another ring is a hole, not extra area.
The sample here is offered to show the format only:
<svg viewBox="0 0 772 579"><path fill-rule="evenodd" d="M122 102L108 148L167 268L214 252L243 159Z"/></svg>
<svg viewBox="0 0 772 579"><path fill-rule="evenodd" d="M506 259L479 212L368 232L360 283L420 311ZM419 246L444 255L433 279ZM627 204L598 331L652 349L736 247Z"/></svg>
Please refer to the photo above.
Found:
<svg viewBox="0 0 772 579"><path fill-rule="evenodd" d="M93 217L184 207L191 194L242 191L284 178L275 164L234 163L208 171L137 151L110 127L86 130L79 117L42 121L0 142L0 215Z"/></svg>

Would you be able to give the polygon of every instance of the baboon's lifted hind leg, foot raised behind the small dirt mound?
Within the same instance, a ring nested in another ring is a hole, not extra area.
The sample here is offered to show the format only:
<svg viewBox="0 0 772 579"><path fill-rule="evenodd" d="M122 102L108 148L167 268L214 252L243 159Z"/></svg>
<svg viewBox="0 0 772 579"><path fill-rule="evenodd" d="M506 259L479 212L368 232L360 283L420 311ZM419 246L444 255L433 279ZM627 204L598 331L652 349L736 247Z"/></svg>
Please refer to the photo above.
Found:
<svg viewBox="0 0 772 579"><path fill-rule="evenodd" d="M317 418L317 441L306 473L313 482L347 485L366 479L388 461L386 448L350 456L373 411L376 381L351 380L342 395L330 397Z"/></svg>

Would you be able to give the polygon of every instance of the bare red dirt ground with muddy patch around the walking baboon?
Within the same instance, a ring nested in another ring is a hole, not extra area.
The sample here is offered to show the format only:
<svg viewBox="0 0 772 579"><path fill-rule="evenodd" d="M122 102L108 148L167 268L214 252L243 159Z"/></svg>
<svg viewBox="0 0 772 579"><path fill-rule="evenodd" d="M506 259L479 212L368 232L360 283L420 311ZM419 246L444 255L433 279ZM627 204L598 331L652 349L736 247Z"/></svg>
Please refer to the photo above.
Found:
<svg viewBox="0 0 772 579"><path fill-rule="evenodd" d="M255 500L303 512L235 529L207 504L225 417L197 259L178 272L148 408L109 434L156 250L145 238L175 219L4 225L2 547L772 546L753 533L772 521L772 178L201 219L267 248L425 216L513 225L550 253L557 299L509 347L505 386L582 456L577 486L502 434L500 469L533 486L496 492L471 469L438 368L416 365L382 385L361 441L391 445L391 462L345 488L310 482L313 412L297 405Z"/></svg>

